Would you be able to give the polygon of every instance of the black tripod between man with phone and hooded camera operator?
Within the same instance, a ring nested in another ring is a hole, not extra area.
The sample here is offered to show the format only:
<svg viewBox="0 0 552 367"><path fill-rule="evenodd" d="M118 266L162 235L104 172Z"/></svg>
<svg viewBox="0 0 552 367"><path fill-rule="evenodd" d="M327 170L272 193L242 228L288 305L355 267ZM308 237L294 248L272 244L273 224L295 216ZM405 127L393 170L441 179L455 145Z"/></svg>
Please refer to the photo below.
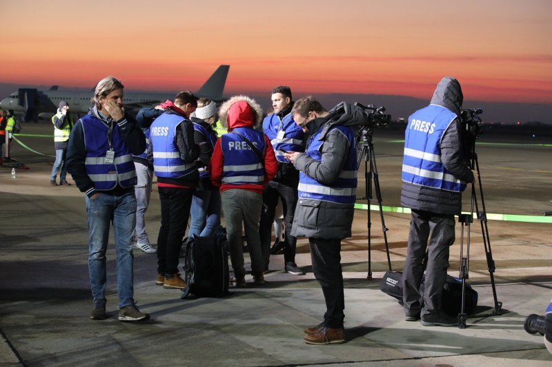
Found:
<svg viewBox="0 0 552 367"><path fill-rule="evenodd" d="M391 271L391 258L389 258L389 245L387 243L387 231L388 228L385 227L384 222L384 212L382 209L382 191L380 190L380 180L377 176L377 167L375 165L375 154L374 154L374 145L372 143L372 136L373 136L373 130L371 127L363 127L358 132L359 134L359 143L361 143L360 146L360 152L357 158L357 169L360 167L360 160L362 159L362 156L364 156L364 181L366 186L366 192L364 198L359 198L357 200L367 200L368 203L368 276L366 279L371 280L372 279L372 268L371 268L371 250L372 250L372 218L371 218L371 209L370 209L370 202L373 200L372 197L372 180L374 182L375 187L375 196L377 198L377 204L380 206L380 218L382 220L382 231L384 233L384 240L385 240L385 251L387 253L387 264L389 266L389 271ZM370 165L368 165L368 162L370 162Z"/></svg>

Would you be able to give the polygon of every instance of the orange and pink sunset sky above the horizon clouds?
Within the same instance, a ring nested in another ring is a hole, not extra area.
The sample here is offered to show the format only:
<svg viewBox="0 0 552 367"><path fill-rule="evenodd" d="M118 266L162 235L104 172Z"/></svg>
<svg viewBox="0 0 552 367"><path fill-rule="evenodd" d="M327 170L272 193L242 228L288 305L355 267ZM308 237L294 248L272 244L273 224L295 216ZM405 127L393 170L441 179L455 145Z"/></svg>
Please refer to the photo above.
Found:
<svg viewBox="0 0 552 367"><path fill-rule="evenodd" d="M552 1L0 0L0 83L552 103Z"/></svg>

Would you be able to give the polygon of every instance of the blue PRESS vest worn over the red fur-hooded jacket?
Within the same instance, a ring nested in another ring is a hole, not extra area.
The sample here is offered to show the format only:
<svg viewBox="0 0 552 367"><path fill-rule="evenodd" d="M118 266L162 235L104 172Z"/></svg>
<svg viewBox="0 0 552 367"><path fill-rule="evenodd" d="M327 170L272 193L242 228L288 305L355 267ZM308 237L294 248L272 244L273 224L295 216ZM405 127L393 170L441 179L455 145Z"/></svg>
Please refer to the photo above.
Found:
<svg viewBox="0 0 552 367"><path fill-rule="evenodd" d="M264 182L264 162L249 147L246 141L237 134L242 134L250 140L264 156L266 143L264 134L252 127L237 127L220 137L224 156L222 183L230 185L259 185Z"/></svg>

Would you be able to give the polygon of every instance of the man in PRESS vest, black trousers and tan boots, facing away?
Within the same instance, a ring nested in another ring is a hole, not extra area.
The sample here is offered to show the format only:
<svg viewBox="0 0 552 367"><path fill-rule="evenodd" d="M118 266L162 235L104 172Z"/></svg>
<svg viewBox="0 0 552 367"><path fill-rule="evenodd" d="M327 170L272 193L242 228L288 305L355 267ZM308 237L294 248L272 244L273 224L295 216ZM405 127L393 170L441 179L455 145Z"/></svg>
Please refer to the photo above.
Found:
<svg viewBox="0 0 552 367"><path fill-rule="evenodd" d="M147 154L157 176L161 200L155 284L165 289L184 289L186 282L177 267L193 191L199 182L195 160L200 150L194 143L193 123L189 120L197 107L197 98L191 92L180 92L174 103L166 101L161 107L163 114L150 127Z"/></svg>

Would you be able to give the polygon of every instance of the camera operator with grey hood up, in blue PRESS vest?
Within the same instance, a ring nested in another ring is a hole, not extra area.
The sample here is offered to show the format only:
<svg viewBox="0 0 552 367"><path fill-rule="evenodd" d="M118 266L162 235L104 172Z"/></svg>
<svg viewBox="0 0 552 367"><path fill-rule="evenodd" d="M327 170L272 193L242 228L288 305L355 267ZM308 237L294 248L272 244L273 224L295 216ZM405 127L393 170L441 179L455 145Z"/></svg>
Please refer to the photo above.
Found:
<svg viewBox="0 0 552 367"><path fill-rule="evenodd" d="M412 219L402 277L403 302L406 321L421 317L424 326L458 323L442 311L442 291L449 247L455 240L454 216L460 214L466 182L475 180L462 145L462 100L460 83L442 78L431 104L414 112L406 126L401 205L411 208ZM426 249L426 280L420 295Z"/></svg>

